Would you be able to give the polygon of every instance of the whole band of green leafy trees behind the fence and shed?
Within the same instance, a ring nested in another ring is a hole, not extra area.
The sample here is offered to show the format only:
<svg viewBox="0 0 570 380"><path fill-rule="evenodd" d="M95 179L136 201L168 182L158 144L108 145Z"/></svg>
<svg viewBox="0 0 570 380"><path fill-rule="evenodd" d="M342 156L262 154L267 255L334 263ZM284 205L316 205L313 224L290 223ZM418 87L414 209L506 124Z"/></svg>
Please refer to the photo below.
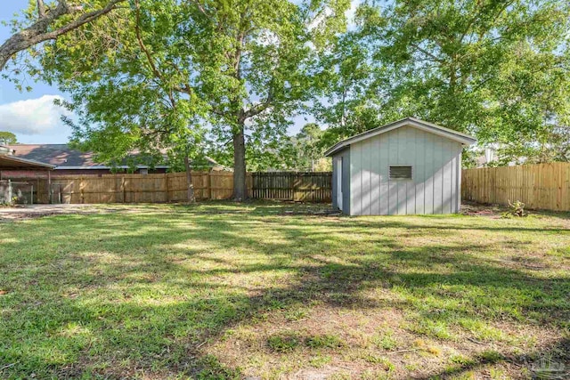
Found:
<svg viewBox="0 0 570 380"><path fill-rule="evenodd" d="M208 154L234 168L236 199L246 170L326 169L326 147L408 116L476 135L499 163L570 159L566 1L364 1L347 28L349 7L37 1L13 22L28 53L10 39L0 57L69 94L72 140L102 160ZM26 44L29 30L53 36ZM299 114L317 124L290 137Z"/></svg>

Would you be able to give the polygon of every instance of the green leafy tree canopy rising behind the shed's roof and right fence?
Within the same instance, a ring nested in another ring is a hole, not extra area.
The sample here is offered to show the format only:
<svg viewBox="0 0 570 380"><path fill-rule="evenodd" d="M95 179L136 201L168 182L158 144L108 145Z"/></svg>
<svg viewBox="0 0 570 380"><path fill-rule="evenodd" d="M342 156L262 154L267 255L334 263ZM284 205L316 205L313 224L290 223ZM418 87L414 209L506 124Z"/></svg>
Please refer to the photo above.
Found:
<svg viewBox="0 0 570 380"><path fill-rule="evenodd" d="M315 107L327 138L415 116L510 158L557 156L544 150L570 121L566 1L369 1L357 20L323 60L338 84Z"/></svg>

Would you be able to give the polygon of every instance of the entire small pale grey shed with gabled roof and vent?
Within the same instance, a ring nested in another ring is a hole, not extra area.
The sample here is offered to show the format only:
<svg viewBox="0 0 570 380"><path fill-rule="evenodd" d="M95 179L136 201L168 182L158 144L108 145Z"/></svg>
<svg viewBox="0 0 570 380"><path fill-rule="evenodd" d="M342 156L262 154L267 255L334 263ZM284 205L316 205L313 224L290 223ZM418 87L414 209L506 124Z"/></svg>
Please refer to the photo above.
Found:
<svg viewBox="0 0 570 380"><path fill-rule="evenodd" d="M332 204L350 215L452 214L461 205L461 151L476 139L413 117L338 142Z"/></svg>

